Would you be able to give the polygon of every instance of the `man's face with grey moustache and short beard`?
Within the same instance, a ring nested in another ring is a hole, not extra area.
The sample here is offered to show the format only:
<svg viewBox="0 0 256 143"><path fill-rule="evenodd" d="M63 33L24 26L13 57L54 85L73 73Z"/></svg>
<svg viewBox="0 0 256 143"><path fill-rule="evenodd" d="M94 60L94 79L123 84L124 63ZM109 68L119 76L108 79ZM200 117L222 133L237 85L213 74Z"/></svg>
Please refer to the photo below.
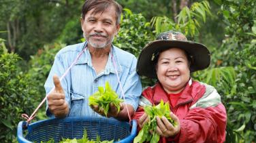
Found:
<svg viewBox="0 0 256 143"><path fill-rule="evenodd" d="M120 26L116 25L116 10L108 7L102 13L93 14L91 9L81 21L84 38L94 48L111 47Z"/></svg>

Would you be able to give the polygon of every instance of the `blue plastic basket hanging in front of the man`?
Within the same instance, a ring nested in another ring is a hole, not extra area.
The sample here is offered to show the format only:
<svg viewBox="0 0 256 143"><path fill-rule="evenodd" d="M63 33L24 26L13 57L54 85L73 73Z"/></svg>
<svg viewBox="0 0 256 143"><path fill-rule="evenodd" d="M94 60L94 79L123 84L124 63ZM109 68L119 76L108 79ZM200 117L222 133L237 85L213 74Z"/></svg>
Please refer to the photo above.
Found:
<svg viewBox="0 0 256 143"><path fill-rule="evenodd" d="M46 142L51 139L54 139L54 142L59 142L62 138L82 138L84 129L86 129L90 140L96 140L97 135L99 135L101 140L133 142L136 136L137 123L135 120L131 123L132 127L127 122L106 117L46 119L29 125L25 121L20 121L17 136L18 142Z"/></svg>

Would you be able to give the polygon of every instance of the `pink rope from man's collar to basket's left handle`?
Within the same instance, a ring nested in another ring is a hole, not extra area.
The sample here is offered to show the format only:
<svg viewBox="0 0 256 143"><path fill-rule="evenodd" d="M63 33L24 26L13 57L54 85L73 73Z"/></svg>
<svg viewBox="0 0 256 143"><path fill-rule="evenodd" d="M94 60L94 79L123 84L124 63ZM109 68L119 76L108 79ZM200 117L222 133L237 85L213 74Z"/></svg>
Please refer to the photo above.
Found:
<svg viewBox="0 0 256 143"><path fill-rule="evenodd" d="M74 64L76 64L76 62L78 62L78 59L80 58L80 56L82 56L82 53L85 51L86 47L82 50L82 52L80 52L80 54L76 57L76 59L74 60L74 62L72 62L72 64L69 66L69 68L67 68L67 70L65 71L65 73L61 76L60 81L67 75L67 73L69 73L69 70L71 69L72 66L74 66ZM37 110L42 106L42 104L44 104L44 102L47 99L47 96L54 91L55 87L52 87L52 89L50 90L50 92L48 94L46 94L46 97L44 98L44 100L42 100L42 102L37 106L37 108L35 108L34 112L32 113L32 115L29 117L27 114L22 114L21 117L27 119L27 124L30 123L30 121L35 117L35 113L37 113Z"/></svg>

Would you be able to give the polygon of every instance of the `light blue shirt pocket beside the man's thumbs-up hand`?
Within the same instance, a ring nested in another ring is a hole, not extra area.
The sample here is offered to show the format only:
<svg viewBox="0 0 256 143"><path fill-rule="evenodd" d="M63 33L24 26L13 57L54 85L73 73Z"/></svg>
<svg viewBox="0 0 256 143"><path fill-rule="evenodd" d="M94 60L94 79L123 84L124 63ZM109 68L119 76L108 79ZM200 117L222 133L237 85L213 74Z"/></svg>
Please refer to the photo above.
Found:
<svg viewBox="0 0 256 143"><path fill-rule="evenodd" d="M70 93L71 105L69 116L81 116L82 115L82 106L84 103L84 95L78 94L75 92Z"/></svg>

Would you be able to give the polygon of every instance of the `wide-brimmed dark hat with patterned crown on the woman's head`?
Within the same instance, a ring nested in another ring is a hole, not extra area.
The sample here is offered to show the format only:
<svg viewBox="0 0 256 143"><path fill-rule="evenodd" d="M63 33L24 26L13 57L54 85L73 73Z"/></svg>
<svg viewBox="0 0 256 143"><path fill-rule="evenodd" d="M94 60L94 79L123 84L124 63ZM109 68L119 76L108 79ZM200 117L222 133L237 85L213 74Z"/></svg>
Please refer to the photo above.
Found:
<svg viewBox="0 0 256 143"><path fill-rule="evenodd" d="M174 47L185 50L191 58L191 72L203 70L210 65L210 52L205 45L187 41L182 33L168 31L161 33L157 40L148 43L142 49L136 67L138 75L156 78L156 58L161 52Z"/></svg>

